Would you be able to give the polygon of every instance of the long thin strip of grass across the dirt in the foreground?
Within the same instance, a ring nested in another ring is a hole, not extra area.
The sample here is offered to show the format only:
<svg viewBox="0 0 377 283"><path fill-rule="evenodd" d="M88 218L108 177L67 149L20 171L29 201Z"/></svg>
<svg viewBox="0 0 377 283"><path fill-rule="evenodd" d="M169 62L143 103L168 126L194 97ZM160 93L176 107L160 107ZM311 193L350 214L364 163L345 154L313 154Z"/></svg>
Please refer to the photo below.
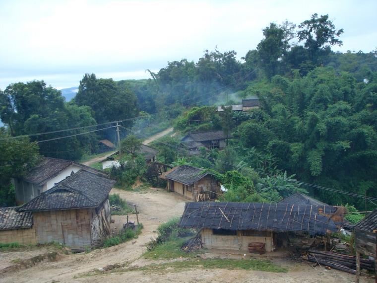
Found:
<svg viewBox="0 0 377 283"><path fill-rule="evenodd" d="M192 268L204 269L228 269L228 270L258 270L265 272L283 272L288 270L284 267L275 265L269 260L258 259L189 259L185 261L168 262L162 264L151 264L143 267L130 268L126 271L163 271L166 269L173 269L180 271Z"/></svg>

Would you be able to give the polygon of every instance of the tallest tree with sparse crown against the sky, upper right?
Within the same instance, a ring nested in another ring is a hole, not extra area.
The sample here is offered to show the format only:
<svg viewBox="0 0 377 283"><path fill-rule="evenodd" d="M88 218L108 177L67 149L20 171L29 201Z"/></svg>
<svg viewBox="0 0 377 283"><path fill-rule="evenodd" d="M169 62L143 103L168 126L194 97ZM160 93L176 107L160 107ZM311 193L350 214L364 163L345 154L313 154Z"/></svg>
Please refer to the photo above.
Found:
<svg viewBox="0 0 377 283"><path fill-rule="evenodd" d="M299 41L305 41L304 46L308 49L314 64L320 64L318 60L321 56L329 54L331 46L343 44L336 37L339 37L344 31L335 29L335 25L328 19L328 14L318 17L318 14L315 13L310 20L303 21L299 28L297 33Z"/></svg>

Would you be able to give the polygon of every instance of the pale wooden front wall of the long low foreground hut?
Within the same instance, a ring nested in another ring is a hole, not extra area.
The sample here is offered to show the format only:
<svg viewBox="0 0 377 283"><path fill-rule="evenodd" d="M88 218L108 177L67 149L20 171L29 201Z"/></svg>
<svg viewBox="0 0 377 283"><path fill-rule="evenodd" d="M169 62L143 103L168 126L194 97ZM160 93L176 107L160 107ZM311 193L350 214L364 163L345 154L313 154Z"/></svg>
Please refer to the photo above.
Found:
<svg viewBox="0 0 377 283"><path fill-rule="evenodd" d="M253 234L248 231L248 234ZM245 232L245 234L247 234ZM255 231L254 236L246 236L243 231L237 231L237 235L214 235L212 229L202 229L201 239L207 249L227 249L248 252L251 242L265 243L266 252L273 252L273 233ZM264 235L263 235L264 234Z"/></svg>

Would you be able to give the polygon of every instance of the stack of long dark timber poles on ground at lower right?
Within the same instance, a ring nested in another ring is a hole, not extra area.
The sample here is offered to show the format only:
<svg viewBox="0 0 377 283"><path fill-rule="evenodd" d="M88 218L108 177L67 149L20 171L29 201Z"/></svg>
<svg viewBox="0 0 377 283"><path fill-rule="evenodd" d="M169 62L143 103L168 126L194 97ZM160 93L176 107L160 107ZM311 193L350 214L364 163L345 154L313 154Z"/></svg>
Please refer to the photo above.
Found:
<svg viewBox="0 0 377 283"><path fill-rule="evenodd" d="M309 254L303 256L303 258L320 265L356 274L356 257L351 255L310 250ZM374 261L368 259L360 259L360 268L374 271Z"/></svg>

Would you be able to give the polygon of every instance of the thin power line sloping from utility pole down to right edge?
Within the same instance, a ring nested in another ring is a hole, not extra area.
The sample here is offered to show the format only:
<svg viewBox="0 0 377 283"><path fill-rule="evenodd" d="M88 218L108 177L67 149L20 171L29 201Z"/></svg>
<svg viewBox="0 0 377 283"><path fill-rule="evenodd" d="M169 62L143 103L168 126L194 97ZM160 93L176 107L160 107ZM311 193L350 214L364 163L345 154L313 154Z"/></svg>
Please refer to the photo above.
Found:
<svg viewBox="0 0 377 283"><path fill-rule="evenodd" d="M127 131L134 132L131 129L127 129L124 126L120 126L120 127L124 128ZM165 145L170 146L170 147L173 147L173 148L175 148L177 150L186 150L186 151L189 151L186 148L182 148L182 147L179 147L177 145L170 144L170 143L167 143L167 142L160 141L160 143L165 144ZM210 156L205 156L205 155L200 154L200 153L197 154L197 155L202 156L202 157L207 158L207 159L210 159L210 160L213 160L213 161L218 161L218 162L221 162L221 163L224 163L224 164L227 164L227 165L231 165L233 167L242 168L242 166L239 166L239 165L236 165L236 164L233 164L233 163L221 160L221 159L217 159L217 158L210 157ZM255 171L255 172L257 172L257 173L259 173L259 174L262 174L262 175L267 175L269 177L279 178L279 176L276 176L276 175L273 175L273 174L269 174L269 173L262 172L262 171L257 171L257 170L254 170L254 169L252 169L252 170ZM306 183L306 182L301 182L299 180L290 180L290 182L295 182L295 183L298 183L298 184L303 184L303 185L306 185L306 186L309 186L309 187L313 187L313 188L316 188L316 189L327 190L327 191L331 191L331 192L334 192L334 193L349 195L349 196L352 196L352 197L363 198L363 199L367 199L369 201L377 201L377 198L366 197L366 196L355 194L355 193L351 193L351 192L345 192L345 191L340 191L340 190L336 190L336 189L332 189L332 188L327 188L327 187L323 187L323 186L319 186L319 185L314 185L314 184L310 184L310 183Z"/></svg>

